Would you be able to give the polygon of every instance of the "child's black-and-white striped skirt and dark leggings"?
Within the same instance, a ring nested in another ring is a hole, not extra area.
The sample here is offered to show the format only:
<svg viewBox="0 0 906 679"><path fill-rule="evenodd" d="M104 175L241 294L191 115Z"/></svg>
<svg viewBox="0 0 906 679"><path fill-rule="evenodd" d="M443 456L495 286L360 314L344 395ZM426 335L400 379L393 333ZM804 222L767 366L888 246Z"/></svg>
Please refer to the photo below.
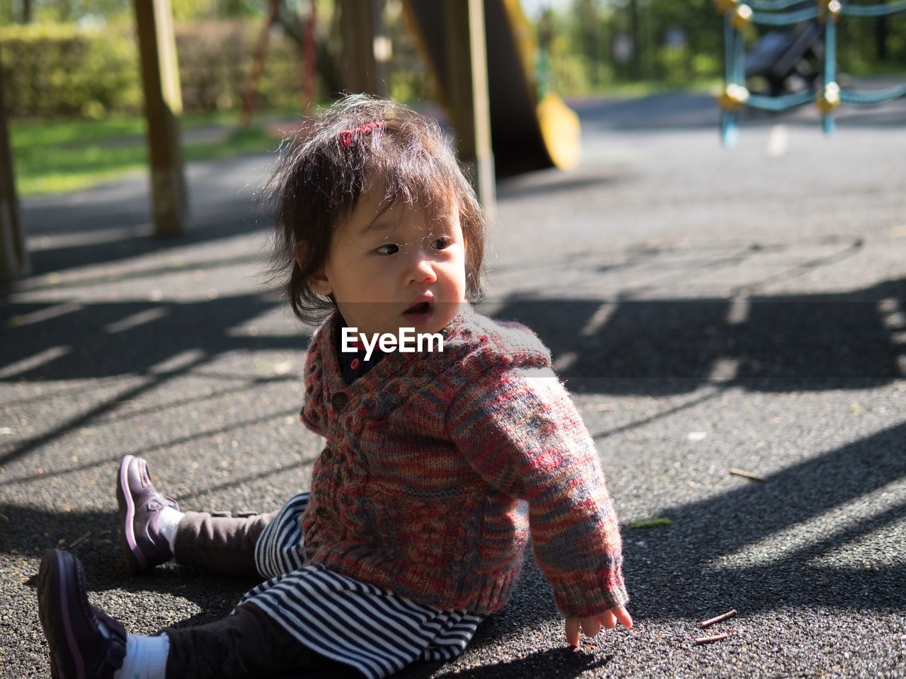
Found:
<svg viewBox="0 0 906 679"><path fill-rule="evenodd" d="M383 679L417 661L459 655L485 616L441 609L303 564L300 519L308 494L276 514L220 519L190 513L179 523L178 562L265 579L233 615L167 630L168 677L317 676ZM287 674L294 673L294 674Z"/></svg>

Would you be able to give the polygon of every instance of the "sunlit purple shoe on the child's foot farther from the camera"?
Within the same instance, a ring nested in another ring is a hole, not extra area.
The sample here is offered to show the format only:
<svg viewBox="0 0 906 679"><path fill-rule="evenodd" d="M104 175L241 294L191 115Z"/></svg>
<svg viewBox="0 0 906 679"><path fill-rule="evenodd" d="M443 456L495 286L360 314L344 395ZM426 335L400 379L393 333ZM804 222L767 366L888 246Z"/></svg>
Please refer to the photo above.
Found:
<svg viewBox="0 0 906 679"><path fill-rule="evenodd" d="M148 463L140 457L122 458L116 501L122 521L120 544L130 572L135 575L172 559L169 542L158 530L158 519L164 507L178 510L179 505L151 485Z"/></svg>

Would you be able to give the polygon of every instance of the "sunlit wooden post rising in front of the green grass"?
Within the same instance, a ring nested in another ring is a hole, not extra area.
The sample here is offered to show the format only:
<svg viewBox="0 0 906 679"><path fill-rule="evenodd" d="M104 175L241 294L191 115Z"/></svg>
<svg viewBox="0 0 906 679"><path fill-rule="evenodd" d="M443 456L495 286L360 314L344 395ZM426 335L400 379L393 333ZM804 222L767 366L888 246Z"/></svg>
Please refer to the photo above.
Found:
<svg viewBox="0 0 906 679"><path fill-rule="evenodd" d="M155 231L177 235L183 232L187 196L179 146L182 95L169 0L135 0L135 17L148 118Z"/></svg>

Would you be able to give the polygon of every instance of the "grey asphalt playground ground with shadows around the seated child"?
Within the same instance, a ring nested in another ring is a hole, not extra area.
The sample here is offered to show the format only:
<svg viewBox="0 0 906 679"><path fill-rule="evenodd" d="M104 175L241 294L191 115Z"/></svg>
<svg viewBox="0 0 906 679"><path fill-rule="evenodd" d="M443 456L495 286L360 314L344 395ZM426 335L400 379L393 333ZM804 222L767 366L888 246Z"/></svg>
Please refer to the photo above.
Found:
<svg viewBox="0 0 906 679"><path fill-rule="evenodd" d="M498 184L485 309L545 339L597 442L635 626L568 648L529 562L456 662L400 676L906 676L906 104L843 110L830 139L813 111L749 116L732 150L708 97L574 107L583 164ZM223 617L253 584L131 577L122 455L188 509L306 487L308 331L263 286L252 209L268 162L189 167L172 240L149 235L142 178L24 201L35 273L0 329L3 677L49 674L48 548L131 632Z"/></svg>

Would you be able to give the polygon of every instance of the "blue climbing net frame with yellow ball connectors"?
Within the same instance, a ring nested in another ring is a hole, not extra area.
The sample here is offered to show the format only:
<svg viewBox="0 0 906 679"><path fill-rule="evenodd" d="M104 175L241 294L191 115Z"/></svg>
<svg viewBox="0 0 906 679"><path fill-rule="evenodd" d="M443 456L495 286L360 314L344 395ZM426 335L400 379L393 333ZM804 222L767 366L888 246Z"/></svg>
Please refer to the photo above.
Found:
<svg viewBox="0 0 906 679"><path fill-rule="evenodd" d="M739 112L746 107L761 110L787 110L814 101L822 113L824 132L834 132L834 110L841 104L872 106L906 96L906 84L878 91L860 92L837 84L837 23L843 16L883 16L906 11L906 0L878 5L849 5L840 0L714 0L724 15L724 90L718 96L721 108L720 133L724 146L732 147L739 134ZM798 6L797 6L798 5ZM746 44L743 31L749 24L793 26L817 21L824 37L822 72L816 87L776 97L752 94L746 89Z"/></svg>

